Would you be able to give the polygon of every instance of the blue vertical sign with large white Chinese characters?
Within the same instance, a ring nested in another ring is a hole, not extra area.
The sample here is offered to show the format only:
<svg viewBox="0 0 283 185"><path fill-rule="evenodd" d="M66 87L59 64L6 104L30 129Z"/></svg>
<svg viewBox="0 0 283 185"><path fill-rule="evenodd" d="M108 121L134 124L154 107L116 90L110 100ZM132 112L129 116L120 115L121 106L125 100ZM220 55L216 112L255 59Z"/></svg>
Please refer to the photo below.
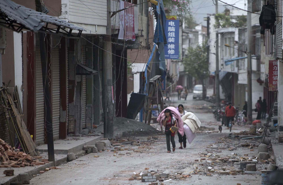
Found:
<svg viewBox="0 0 283 185"><path fill-rule="evenodd" d="M179 58L179 20L166 20L165 35L167 44L164 46L165 58Z"/></svg>

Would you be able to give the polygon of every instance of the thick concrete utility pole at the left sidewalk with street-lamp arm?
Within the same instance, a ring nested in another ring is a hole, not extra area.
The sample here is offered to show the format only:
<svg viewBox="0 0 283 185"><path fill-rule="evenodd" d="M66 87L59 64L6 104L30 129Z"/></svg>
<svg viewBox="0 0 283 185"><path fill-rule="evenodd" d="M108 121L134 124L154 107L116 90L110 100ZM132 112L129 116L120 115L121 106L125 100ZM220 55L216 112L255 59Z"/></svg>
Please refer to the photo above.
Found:
<svg viewBox="0 0 283 185"><path fill-rule="evenodd" d="M112 44L111 44L111 0L107 0L106 36L103 38L103 78L104 78L104 125L105 138L113 138L113 101L112 101Z"/></svg>

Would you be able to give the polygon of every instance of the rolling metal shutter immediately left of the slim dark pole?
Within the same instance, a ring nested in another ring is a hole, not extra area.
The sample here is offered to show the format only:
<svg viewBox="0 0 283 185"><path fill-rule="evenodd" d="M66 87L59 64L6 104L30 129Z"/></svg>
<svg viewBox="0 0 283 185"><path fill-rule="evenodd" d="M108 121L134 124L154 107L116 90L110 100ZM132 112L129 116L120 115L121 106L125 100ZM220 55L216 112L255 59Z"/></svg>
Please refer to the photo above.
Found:
<svg viewBox="0 0 283 185"><path fill-rule="evenodd" d="M39 46L36 47L36 145L44 143L44 95Z"/></svg>

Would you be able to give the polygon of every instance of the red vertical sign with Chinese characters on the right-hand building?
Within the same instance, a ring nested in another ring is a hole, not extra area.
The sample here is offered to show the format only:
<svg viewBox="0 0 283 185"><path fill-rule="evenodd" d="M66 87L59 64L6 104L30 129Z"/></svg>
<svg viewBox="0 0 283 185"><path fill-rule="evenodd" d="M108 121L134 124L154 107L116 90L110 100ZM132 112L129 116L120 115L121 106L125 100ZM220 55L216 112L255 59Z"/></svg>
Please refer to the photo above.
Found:
<svg viewBox="0 0 283 185"><path fill-rule="evenodd" d="M269 60L268 68L268 90L277 90L277 79L278 79L278 60Z"/></svg>

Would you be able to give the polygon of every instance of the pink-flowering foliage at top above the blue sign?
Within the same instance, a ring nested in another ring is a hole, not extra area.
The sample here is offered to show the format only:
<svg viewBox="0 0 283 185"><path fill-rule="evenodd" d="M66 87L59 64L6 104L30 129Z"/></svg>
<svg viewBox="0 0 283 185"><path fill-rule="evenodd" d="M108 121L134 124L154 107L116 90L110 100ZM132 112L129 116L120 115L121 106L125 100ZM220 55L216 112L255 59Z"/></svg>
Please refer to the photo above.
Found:
<svg viewBox="0 0 283 185"><path fill-rule="evenodd" d="M177 12L178 17L189 14L191 0L163 0L164 7Z"/></svg>

